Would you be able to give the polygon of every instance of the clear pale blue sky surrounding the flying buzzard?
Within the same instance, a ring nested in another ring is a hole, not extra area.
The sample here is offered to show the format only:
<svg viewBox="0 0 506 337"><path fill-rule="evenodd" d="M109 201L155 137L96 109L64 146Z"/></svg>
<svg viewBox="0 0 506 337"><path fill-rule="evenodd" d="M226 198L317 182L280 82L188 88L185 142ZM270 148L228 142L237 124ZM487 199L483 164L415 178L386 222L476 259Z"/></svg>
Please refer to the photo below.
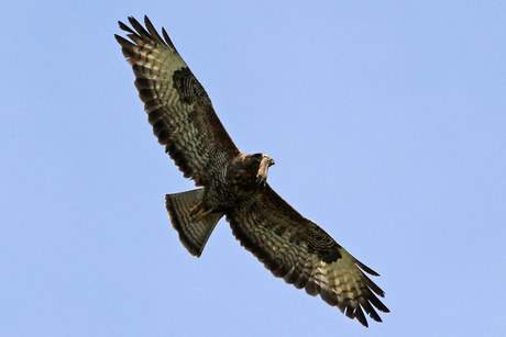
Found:
<svg viewBox="0 0 506 337"><path fill-rule="evenodd" d="M8 1L1 336L503 336L504 1ZM274 278L222 221L202 257L164 194L118 20L165 26L271 186L382 274L370 328Z"/></svg>

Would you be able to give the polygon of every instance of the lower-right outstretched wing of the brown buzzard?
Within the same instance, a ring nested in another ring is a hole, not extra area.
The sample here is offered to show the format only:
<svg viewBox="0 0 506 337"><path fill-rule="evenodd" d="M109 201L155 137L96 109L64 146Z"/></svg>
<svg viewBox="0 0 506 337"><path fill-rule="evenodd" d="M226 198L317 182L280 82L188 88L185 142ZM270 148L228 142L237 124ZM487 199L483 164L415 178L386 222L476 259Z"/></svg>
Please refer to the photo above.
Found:
<svg viewBox="0 0 506 337"><path fill-rule="evenodd" d="M367 326L364 312L382 322L377 310L388 308L375 295L384 292L364 273L367 268L327 232L304 217L270 186L244 207L227 214L233 234L245 249L286 283L338 306L350 318Z"/></svg>

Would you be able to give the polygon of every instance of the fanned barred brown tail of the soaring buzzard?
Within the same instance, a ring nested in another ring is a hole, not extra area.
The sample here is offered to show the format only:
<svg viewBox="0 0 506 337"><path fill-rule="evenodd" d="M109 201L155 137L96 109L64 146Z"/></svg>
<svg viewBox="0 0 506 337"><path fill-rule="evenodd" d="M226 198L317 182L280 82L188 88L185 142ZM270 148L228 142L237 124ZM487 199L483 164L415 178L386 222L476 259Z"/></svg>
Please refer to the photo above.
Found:
<svg viewBox="0 0 506 337"><path fill-rule="evenodd" d="M179 233L179 240L188 251L197 257L202 254L204 247L223 213L209 213L195 222L190 210L202 198L204 189L183 193L166 194L165 207L170 216L174 229Z"/></svg>

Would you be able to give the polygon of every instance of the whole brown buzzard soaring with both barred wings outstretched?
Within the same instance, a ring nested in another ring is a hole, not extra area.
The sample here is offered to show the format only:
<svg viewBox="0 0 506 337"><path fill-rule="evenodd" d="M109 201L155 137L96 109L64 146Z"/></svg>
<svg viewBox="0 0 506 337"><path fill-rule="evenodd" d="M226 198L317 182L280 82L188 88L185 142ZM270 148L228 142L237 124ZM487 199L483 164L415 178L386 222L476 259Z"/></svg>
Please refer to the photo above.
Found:
<svg viewBox="0 0 506 337"><path fill-rule="evenodd" d="M199 257L218 221L227 217L233 235L277 278L337 306L367 326L365 313L382 322L388 308L376 295L378 276L315 222L300 215L267 183L274 160L246 155L232 142L200 82L167 33L163 38L147 16L119 22L130 41L114 35L135 75L147 121L184 177L196 189L165 195L173 227L188 251Z"/></svg>

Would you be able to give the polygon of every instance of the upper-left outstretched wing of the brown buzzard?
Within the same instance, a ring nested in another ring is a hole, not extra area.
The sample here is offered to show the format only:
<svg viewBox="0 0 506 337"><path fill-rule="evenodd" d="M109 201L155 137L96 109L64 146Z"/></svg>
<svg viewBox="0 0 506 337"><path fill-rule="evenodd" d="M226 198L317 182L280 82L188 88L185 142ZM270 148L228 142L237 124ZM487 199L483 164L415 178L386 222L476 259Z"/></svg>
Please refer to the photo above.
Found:
<svg viewBox="0 0 506 337"><path fill-rule="evenodd" d="M184 176L196 186L206 186L240 150L165 30L163 40L147 16L147 31L135 19L129 21L135 31L119 24L131 42L114 36L132 66L153 133Z"/></svg>

